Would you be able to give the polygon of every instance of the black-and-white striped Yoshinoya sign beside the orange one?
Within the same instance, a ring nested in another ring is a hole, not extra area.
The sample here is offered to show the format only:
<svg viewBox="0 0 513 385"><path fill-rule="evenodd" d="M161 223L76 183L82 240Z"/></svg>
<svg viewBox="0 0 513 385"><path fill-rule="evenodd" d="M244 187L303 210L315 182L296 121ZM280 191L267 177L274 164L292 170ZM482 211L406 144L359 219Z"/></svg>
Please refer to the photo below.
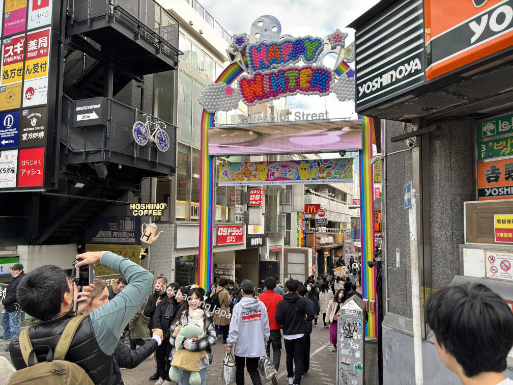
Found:
<svg viewBox="0 0 513 385"><path fill-rule="evenodd" d="M357 30L356 46L357 110L425 82L422 2L406 1L372 19Z"/></svg>

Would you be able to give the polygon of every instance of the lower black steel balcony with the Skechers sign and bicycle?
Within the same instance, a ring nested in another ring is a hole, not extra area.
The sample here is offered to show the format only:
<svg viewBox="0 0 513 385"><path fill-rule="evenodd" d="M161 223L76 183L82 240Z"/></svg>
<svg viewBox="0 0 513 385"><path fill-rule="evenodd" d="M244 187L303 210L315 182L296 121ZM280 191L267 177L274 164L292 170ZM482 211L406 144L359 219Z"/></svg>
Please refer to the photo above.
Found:
<svg viewBox="0 0 513 385"><path fill-rule="evenodd" d="M102 111L102 117L106 124L75 127L75 101L63 96L61 143L65 149L61 150L61 161L64 164L106 162L115 167L121 165L125 181L137 183L144 177L175 174L175 126L164 122L170 142L166 152L158 150L152 142L140 146L133 139L132 126L137 120L146 122L143 112L107 98L86 101L94 104L98 100L105 103L106 111L105 115Z"/></svg>

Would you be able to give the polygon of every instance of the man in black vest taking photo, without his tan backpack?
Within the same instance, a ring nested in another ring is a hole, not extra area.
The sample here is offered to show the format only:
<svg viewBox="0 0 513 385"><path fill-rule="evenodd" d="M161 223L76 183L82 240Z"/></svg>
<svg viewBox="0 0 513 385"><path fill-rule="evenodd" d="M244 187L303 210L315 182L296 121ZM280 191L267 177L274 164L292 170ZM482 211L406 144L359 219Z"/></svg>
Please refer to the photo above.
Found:
<svg viewBox="0 0 513 385"><path fill-rule="evenodd" d="M80 323L69 341L64 360L76 363L95 384L120 383L112 354L125 325L150 293L153 275L128 258L111 252L87 252L77 255L76 260L75 268L100 263L122 274L128 285L112 301L94 309L85 318L77 317ZM66 272L55 265L37 267L19 282L17 301L21 309L39 320L28 329L38 362L46 361L49 349L55 352L65 327L75 319L75 307L76 314L81 314L90 305L92 290L93 287L87 286L79 293L76 283L72 284ZM22 348L27 349L26 343L20 343L19 336L15 336L9 348L16 370L26 368L26 350L22 353Z"/></svg>

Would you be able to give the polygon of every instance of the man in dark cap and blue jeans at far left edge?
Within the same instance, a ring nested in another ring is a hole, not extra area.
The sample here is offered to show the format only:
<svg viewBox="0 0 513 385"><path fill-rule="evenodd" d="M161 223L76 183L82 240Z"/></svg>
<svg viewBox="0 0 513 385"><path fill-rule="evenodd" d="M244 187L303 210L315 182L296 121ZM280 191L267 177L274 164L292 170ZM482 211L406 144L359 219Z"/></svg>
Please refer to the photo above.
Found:
<svg viewBox="0 0 513 385"><path fill-rule="evenodd" d="M2 328L4 328L2 338L8 340L19 334L19 318L16 315L16 313L19 315L19 306L16 309L16 287L25 276L21 263L15 263L11 267L11 276L13 279L7 286L5 298L0 302L0 305L4 306L5 309L4 314L2 314ZM5 351L8 352L9 347Z"/></svg>

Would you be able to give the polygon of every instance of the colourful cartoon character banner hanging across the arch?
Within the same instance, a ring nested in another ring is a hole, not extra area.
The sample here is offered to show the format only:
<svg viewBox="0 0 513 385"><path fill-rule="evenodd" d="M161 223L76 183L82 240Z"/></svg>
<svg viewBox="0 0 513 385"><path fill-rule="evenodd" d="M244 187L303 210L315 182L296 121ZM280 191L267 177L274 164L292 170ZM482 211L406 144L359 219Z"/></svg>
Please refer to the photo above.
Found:
<svg viewBox="0 0 513 385"><path fill-rule="evenodd" d="M219 185L352 183L352 158L275 162L223 162Z"/></svg>

